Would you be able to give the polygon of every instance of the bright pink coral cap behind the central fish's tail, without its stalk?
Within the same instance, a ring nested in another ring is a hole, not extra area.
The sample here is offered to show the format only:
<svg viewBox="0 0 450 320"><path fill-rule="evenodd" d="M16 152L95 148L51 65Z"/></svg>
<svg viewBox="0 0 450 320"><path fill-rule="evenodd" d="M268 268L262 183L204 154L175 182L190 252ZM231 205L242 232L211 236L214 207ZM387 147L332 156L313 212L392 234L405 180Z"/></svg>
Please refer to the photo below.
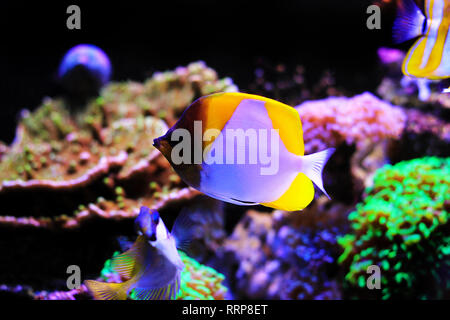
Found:
<svg viewBox="0 0 450 320"><path fill-rule="evenodd" d="M400 108L369 92L353 98L330 97L296 107L303 124L305 152L311 153L343 142L356 148L402 133L405 115Z"/></svg>

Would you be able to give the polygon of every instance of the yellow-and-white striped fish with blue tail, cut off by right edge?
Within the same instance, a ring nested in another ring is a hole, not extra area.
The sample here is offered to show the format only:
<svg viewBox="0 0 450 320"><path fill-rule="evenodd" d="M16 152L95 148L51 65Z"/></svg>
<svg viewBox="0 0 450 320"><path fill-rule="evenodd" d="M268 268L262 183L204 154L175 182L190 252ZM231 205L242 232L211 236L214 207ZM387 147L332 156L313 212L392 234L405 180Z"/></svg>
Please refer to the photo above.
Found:
<svg viewBox="0 0 450 320"><path fill-rule="evenodd" d="M399 2L394 41L418 37L403 61L403 74L429 80L450 78L449 25L450 0L425 0L425 13L413 0Z"/></svg>

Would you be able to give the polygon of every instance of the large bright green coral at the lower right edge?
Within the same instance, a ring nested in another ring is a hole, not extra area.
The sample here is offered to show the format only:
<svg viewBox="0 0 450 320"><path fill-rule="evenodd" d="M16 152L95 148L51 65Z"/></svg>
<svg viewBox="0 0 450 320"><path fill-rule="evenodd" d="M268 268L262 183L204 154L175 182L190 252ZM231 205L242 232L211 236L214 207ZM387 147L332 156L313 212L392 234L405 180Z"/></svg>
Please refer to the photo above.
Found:
<svg viewBox="0 0 450 320"><path fill-rule="evenodd" d="M450 289L450 158L386 165L350 213L338 239L350 289L367 290L367 267L381 270L379 298L440 298ZM371 294L374 294L371 292Z"/></svg>

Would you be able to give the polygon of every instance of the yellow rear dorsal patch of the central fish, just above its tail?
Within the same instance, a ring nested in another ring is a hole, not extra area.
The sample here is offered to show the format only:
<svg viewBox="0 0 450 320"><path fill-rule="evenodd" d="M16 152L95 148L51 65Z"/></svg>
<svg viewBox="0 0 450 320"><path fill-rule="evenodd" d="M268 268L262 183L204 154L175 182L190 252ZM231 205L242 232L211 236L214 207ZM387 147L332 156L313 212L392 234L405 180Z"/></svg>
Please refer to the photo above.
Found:
<svg viewBox="0 0 450 320"><path fill-rule="evenodd" d="M272 126L278 130L286 149L295 155L302 156L304 154L303 131L297 110L275 100L264 100Z"/></svg>

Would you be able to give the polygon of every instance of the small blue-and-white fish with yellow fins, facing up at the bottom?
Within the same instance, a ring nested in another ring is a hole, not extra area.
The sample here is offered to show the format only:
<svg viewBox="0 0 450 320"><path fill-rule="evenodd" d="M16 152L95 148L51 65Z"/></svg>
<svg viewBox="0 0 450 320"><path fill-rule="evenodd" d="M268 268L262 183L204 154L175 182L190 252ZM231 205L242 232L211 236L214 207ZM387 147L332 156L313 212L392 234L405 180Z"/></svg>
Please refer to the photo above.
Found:
<svg viewBox="0 0 450 320"><path fill-rule="evenodd" d="M135 221L139 234L135 243L111 260L112 269L128 280L122 283L86 280L94 298L126 300L133 291L135 300L175 299L184 269L177 247L186 248L191 236L186 215L180 214L170 233L156 210L142 207Z"/></svg>

